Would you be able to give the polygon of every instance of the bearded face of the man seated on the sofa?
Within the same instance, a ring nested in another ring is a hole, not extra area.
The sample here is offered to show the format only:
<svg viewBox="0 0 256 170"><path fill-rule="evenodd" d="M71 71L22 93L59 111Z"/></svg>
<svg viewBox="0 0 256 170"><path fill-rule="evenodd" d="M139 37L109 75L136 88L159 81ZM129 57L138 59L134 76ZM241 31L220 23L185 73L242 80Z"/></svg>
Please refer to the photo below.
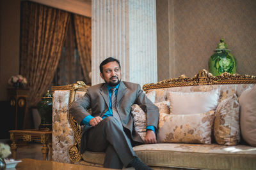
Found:
<svg viewBox="0 0 256 170"><path fill-rule="evenodd" d="M116 86L121 80L121 72L119 64L115 61L108 62L102 66L103 70L100 73L100 77L109 85Z"/></svg>

